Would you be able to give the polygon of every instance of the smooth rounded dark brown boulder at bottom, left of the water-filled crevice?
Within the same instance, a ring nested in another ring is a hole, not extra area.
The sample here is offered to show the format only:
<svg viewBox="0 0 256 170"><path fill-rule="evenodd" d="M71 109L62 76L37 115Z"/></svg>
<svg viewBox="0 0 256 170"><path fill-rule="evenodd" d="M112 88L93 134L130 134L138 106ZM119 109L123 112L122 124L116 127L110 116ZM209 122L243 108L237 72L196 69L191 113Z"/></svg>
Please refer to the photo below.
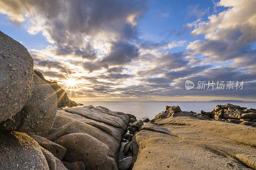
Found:
<svg viewBox="0 0 256 170"><path fill-rule="evenodd" d="M55 141L67 149L64 159L81 161L86 169L116 169L115 159L109 157L108 146L85 133L73 133Z"/></svg>

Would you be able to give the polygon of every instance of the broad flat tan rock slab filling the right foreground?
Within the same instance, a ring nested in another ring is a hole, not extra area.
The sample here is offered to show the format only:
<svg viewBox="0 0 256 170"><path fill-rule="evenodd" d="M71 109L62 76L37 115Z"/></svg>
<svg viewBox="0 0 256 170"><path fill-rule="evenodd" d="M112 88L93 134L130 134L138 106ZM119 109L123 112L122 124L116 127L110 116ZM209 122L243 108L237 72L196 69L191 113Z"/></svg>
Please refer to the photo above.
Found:
<svg viewBox="0 0 256 170"><path fill-rule="evenodd" d="M162 112L132 137L130 169L255 169L256 128L240 121Z"/></svg>

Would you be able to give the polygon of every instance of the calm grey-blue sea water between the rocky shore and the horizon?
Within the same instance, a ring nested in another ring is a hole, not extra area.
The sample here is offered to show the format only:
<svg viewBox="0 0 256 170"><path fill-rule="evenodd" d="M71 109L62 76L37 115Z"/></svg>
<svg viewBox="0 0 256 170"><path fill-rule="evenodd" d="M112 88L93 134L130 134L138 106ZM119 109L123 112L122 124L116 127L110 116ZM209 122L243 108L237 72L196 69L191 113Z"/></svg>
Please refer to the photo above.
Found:
<svg viewBox="0 0 256 170"><path fill-rule="evenodd" d="M84 105L104 106L112 111L120 111L135 115L137 119L148 117L152 120L158 113L165 110L165 105L180 106L182 111L200 113L212 111L216 105L224 105L226 102L211 101L76 101ZM256 102L230 102L241 107L256 108Z"/></svg>

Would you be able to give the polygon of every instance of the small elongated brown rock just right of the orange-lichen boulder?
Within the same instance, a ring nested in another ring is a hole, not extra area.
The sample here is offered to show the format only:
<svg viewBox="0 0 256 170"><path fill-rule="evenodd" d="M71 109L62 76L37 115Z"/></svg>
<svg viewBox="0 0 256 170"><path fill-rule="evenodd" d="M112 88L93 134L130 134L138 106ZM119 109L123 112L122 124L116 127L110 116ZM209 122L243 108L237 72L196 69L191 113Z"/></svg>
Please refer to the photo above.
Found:
<svg viewBox="0 0 256 170"><path fill-rule="evenodd" d="M30 137L32 137L44 149L51 152L54 155L54 157L60 160L64 157L66 148L64 148L63 146L37 135L31 135Z"/></svg>

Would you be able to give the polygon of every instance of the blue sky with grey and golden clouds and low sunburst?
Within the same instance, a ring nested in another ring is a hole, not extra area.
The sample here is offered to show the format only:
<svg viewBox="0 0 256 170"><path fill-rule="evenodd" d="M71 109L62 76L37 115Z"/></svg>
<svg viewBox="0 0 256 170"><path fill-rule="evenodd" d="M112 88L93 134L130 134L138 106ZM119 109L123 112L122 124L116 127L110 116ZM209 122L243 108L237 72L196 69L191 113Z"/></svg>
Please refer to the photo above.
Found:
<svg viewBox="0 0 256 170"><path fill-rule="evenodd" d="M255 0L0 0L0 30L75 101L256 101Z"/></svg>

